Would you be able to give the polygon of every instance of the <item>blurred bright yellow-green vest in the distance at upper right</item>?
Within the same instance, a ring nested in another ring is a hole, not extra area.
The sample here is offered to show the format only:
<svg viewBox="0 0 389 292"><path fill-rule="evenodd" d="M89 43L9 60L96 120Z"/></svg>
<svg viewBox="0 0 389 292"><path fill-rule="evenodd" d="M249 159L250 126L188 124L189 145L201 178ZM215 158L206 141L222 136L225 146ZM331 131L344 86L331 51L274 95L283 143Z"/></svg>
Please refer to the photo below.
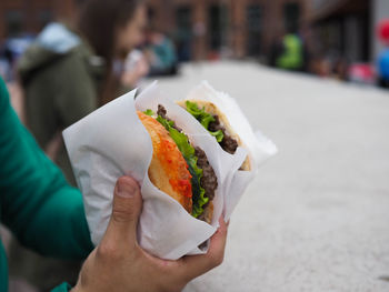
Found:
<svg viewBox="0 0 389 292"><path fill-rule="evenodd" d="M277 59L278 68L287 70L298 70L302 67L302 43L298 36L287 34L283 37L283 53Z"/></svg>

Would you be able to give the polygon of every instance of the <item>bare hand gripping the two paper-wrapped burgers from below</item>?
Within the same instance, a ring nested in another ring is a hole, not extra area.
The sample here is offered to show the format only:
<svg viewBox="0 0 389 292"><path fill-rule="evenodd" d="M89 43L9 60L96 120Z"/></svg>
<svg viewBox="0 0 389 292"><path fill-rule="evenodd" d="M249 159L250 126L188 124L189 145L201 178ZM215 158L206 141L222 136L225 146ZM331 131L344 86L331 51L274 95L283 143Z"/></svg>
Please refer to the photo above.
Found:
<svg viewBox="0 0 389 292"><path fill-rule="evenodd" d="M189 281L221 264L227 238L222 219L207 254L167 261L148 254L138 245L141 205L137 182L129 177L120 178L106 234L84 262L74 292L181 291Z"/></svg>

